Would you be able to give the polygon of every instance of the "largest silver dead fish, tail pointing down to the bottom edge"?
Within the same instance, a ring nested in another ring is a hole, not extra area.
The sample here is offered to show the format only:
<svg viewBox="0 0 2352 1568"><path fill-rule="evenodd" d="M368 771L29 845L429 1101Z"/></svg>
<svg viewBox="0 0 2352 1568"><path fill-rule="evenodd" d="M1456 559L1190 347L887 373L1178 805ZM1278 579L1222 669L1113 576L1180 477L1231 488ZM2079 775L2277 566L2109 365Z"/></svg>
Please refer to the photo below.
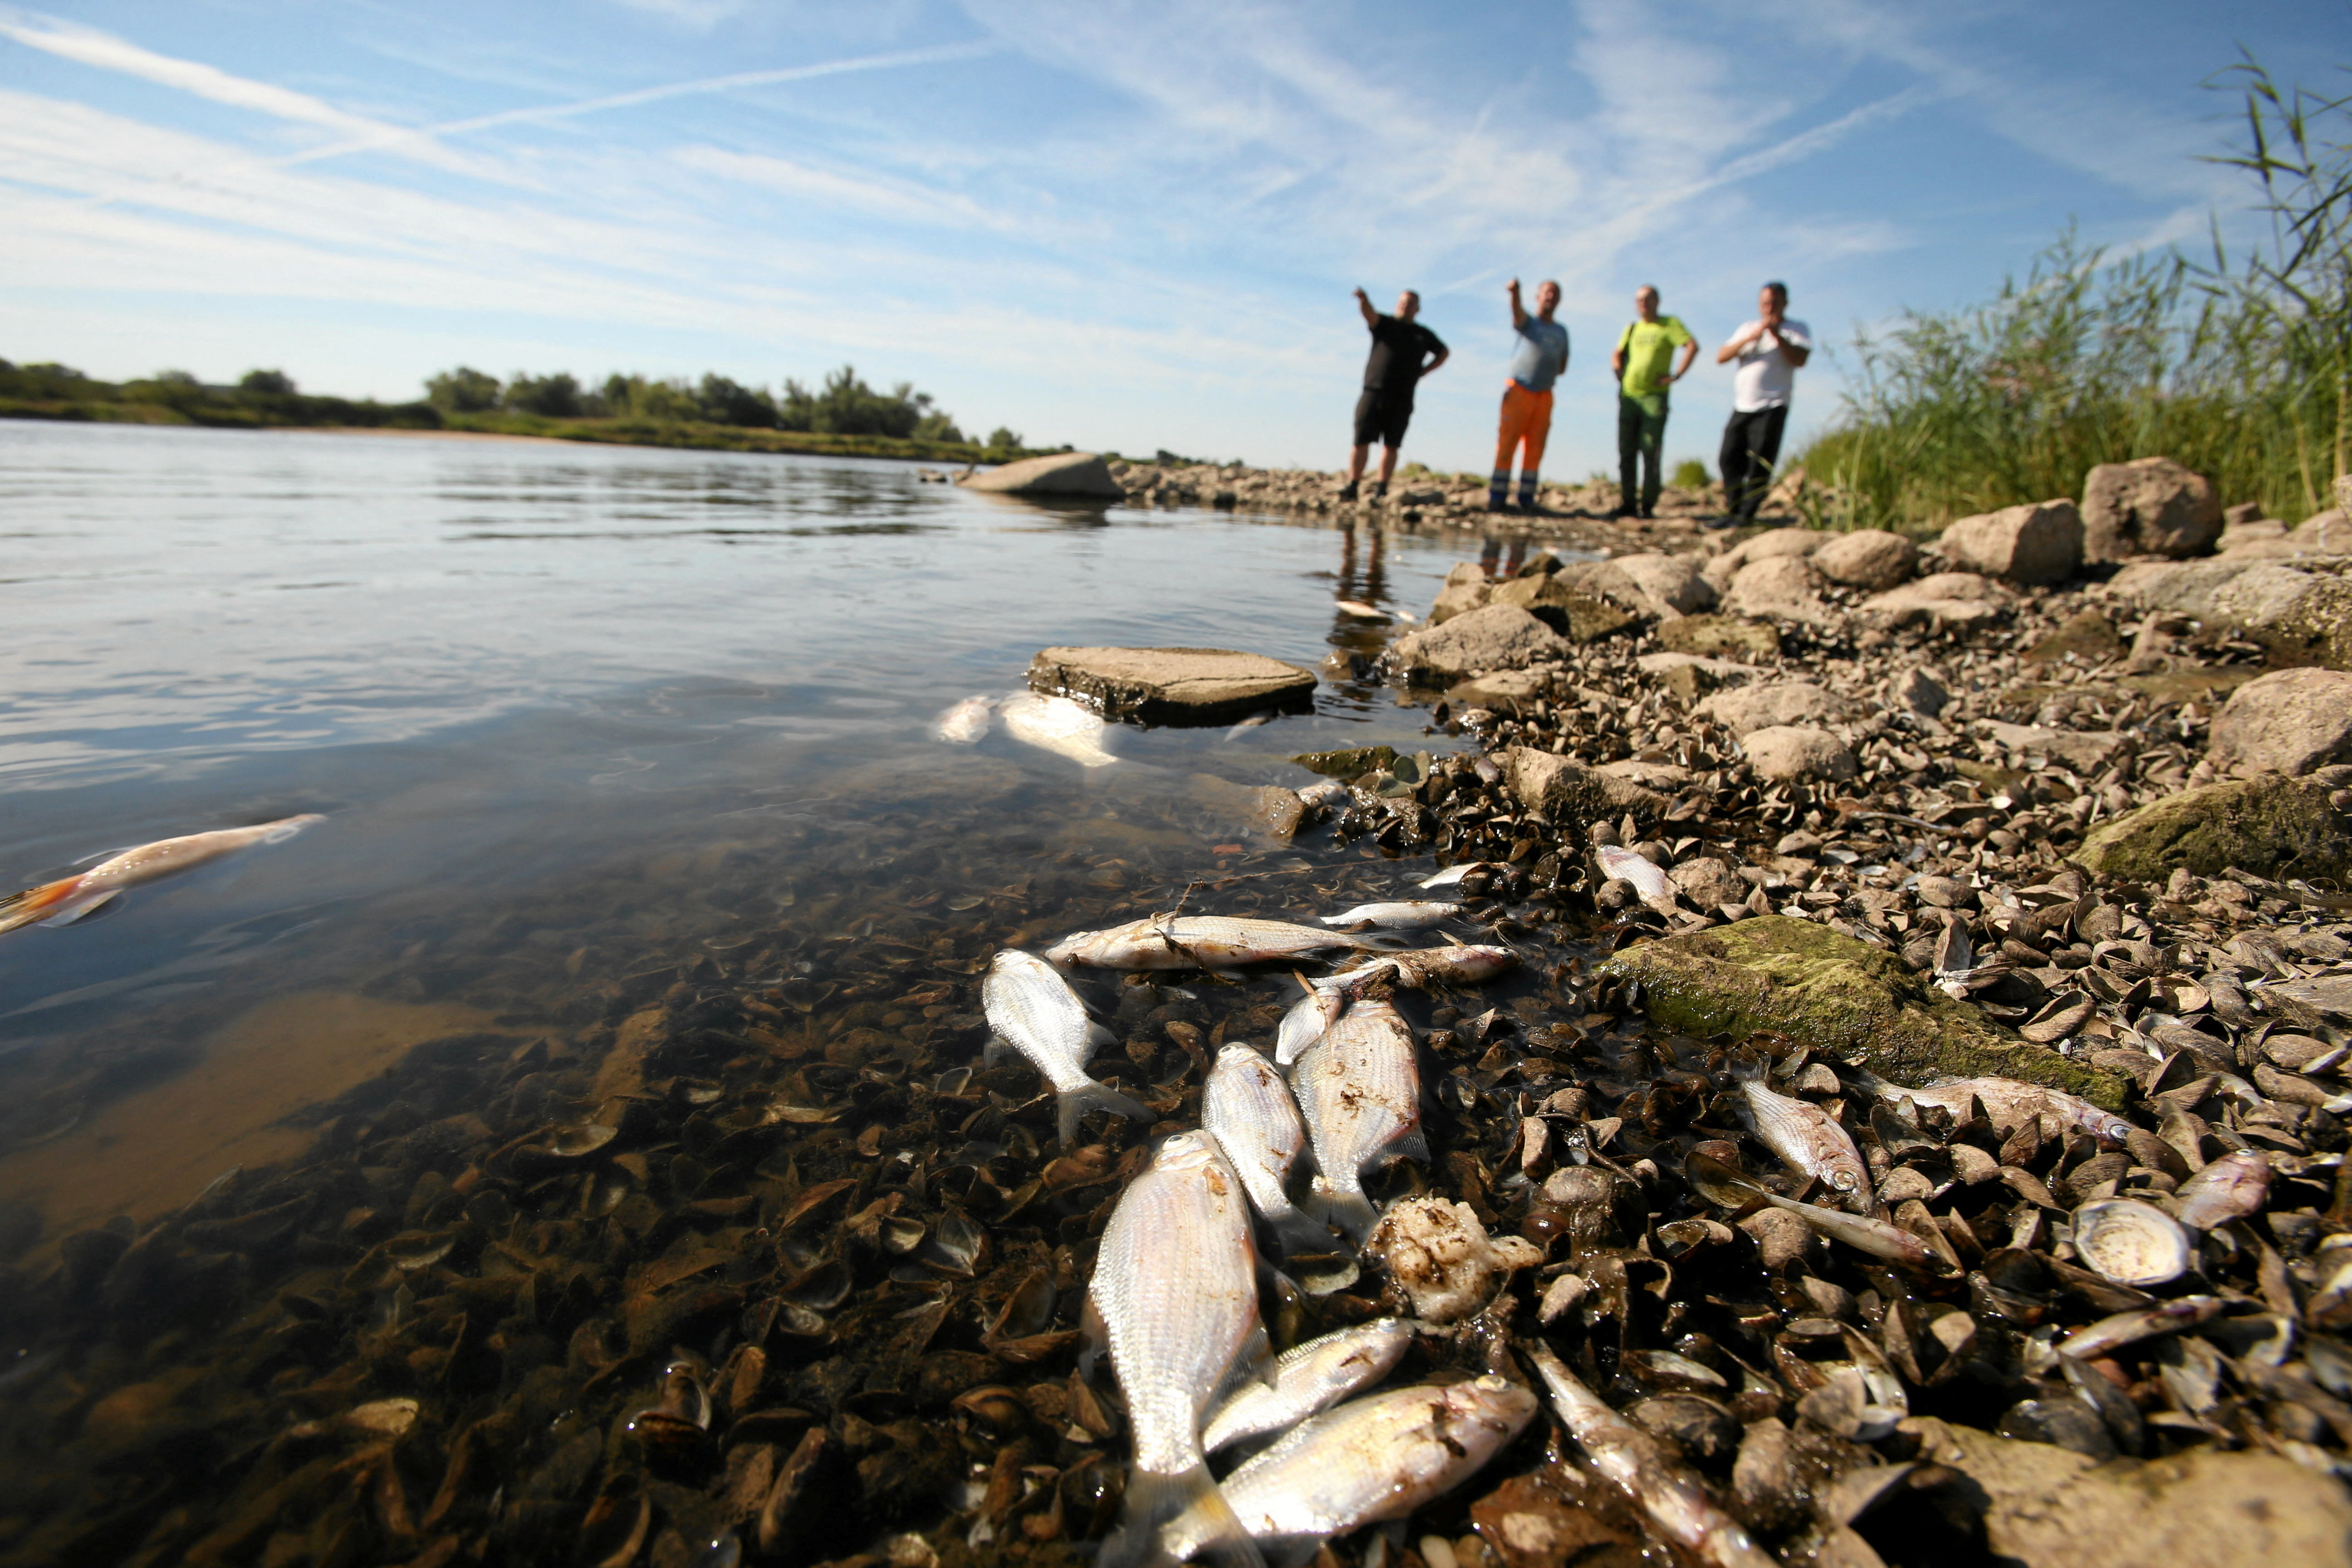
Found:
<svg viewBox="0 0 2352 1568"><path fill-rule="evenodd" d="M1162 1143L1120 1194L1087 1286L1087 1328L1110 1347L1134 1439L1127 1516L1096 1563L1160 1561L1160 1526L1183 1516L1200 1552L1261 1568L1200 1443L1228 1378L1270 1371L1249 1199L1209 1133Z"/></svg>

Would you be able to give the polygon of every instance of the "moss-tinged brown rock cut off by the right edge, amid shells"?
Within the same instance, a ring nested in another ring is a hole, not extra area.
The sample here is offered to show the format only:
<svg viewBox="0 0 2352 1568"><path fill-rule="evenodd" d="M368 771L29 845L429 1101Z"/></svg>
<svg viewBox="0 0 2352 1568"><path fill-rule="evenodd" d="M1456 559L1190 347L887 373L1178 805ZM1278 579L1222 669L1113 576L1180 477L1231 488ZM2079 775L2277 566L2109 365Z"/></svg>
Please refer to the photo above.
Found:
<svg viewBox="0 0 2352 1568"><path fill-rule="evenodd" d="M2328 792L2277 773L2183 790L2093 827L2074 863L2126 882L2164 882L2176 870L2218 877L2232 865L2258 877L2345 877L2352 823Z"/></svg>

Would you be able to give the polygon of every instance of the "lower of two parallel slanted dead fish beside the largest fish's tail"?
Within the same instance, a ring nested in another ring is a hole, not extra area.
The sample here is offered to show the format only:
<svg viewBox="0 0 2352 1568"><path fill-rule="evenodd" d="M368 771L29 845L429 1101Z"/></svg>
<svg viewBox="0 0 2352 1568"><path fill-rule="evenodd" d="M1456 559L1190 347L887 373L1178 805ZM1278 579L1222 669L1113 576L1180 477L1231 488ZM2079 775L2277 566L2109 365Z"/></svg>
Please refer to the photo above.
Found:
<svg viewBox="0 0 2352 1568"><path fill-rule="evenodd" d="M1296 1568L1322 1544L1383 1519L1404 1519L1442 1497L1536 1418L1536 1396L1494 1373L1446 1387L1367 1394L1303 1422L1225 1476L1225 1505L1275 1568ZM1160 1544L1174 1559L1200 1552L1190 1516Z"/></svg>

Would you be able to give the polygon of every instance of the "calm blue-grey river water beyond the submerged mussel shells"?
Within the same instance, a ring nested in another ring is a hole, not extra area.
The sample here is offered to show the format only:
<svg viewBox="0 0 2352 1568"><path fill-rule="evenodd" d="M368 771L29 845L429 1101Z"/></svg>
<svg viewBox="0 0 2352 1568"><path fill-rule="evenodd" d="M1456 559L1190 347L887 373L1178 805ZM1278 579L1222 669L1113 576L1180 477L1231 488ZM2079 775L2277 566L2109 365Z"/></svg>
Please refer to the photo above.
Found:
<svg viewBox="0 0 2352 1568"><path fill-rule="evenodd" d="M0 938L0 1246L289 1159L419 1041L529 1037L682 943L724 964L776 919L978 898L1016 922L1049 860L1141 914L1336 856L1244 842L1197 776L1428 745L1376 686L1127 729L1096 776L924 726L1056 642L1371 651L1334 599L1423 609L1454 559L898 463L0 423L0 882L329 818Z"/></svg>

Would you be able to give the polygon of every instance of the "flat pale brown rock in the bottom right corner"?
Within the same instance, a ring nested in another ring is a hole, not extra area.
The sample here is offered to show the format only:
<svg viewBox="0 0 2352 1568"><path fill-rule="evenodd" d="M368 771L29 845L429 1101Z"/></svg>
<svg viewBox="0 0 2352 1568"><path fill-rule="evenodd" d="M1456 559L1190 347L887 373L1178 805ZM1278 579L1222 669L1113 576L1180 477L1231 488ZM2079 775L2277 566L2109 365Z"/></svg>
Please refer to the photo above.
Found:
<svg viewBox="0 0 2352 1568"><path fill-rule="evenodd" d="M2333 1476L2277 1453L2187 1448L2161 1460L2100 1462L1933 1415L1905 1420L1898 1441L1919 1465L1959 1472L1966 1493L1983 1500L1985 1561L2016 1568L2352 1566L2352 1495Z"/></svg>

